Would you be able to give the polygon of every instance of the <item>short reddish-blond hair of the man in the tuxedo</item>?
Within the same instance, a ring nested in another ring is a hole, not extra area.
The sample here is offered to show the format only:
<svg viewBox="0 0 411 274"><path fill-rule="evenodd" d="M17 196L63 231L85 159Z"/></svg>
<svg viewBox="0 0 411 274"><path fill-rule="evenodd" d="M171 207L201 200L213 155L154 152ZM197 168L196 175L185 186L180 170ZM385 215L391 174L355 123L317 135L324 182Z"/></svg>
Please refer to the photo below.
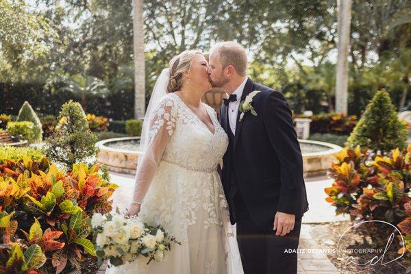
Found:
<svg viewBox="0 0 411 274"><path fill-rule="evenodd" d="M238 75L247 75L247 53L244 47L238 44L238 42L227 41L219 42L212 47L210 52L216 52L219 54L222 69L232 65Z"/></svg>

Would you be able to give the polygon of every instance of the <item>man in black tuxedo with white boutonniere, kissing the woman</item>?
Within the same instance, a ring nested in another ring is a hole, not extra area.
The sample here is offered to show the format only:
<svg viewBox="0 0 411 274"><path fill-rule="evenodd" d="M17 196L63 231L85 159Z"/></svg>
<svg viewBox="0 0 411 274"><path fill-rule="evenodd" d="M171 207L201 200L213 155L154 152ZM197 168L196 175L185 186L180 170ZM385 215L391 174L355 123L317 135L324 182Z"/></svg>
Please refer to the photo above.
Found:
<svg viewBox="0 0 411 274"><path fill-rule="evenodd" d="M214 45L209 62L212 86L229 95L220 112L229 136L222 181L242 268L245 274L297 273L308 202L288 103L282 93L247 77L247 55L238 43Z"/></svg>

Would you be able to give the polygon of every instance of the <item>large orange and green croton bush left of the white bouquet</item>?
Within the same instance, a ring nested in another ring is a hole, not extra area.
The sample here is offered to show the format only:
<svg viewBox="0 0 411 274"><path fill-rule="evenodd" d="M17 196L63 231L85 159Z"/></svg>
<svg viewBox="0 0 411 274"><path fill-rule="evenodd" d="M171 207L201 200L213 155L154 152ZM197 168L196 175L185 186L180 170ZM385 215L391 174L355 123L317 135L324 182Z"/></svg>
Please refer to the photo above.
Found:
<svg viewBox="0 0 411 274"><path fill-rule="evenodd" d="M112 210L116 188L98 165L65 172L47 158L0 164L0 273L81 273L95 256L88 219Z"/></svg>

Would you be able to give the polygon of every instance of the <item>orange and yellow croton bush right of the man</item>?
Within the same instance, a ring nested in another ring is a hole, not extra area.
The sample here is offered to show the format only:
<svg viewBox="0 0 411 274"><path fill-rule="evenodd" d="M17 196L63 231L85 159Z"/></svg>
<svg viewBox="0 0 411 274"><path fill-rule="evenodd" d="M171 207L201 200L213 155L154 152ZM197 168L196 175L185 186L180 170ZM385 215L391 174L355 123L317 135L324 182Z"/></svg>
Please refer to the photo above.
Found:
<svg viewBox="0 0 411 274"><path fill-rule="evenodd" d="M350 214L352 220L399 223L406 216L404 205L411 201L410 156L411 145L388 156L345 148L330 170L334 182L325 188L326 200L336 206L337 214Z"/></svg>

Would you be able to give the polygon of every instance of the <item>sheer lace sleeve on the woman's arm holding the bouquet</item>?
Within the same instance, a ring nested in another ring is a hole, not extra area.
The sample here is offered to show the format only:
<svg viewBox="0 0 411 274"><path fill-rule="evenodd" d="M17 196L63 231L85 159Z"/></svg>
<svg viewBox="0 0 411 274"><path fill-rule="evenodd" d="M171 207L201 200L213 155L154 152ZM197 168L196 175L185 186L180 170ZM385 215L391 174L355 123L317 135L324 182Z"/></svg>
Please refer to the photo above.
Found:
<svg viewBox="0 0 411 274"><path fill-rule="evenodd" d="M142 161L137 167L136 183L134 187L133 201L142 203L151 180L155 175L158 164L173 135L177 119L177 110L173 99L165 97L153 111L150 119L149 143L144 155L140 155Z"/></svg>

